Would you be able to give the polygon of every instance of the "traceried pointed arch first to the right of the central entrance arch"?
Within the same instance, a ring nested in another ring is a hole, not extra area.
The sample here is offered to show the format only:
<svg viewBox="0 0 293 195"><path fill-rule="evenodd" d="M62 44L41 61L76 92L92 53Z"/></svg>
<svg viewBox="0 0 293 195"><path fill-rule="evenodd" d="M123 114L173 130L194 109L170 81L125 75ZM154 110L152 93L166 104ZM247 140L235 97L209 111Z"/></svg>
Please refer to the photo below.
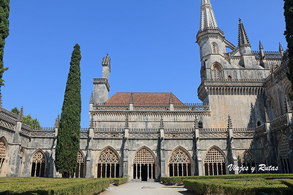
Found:
<svg viewBox="0 0 293 195"><path fill-rule="evenodd" d="M175 147L167 160L168 176L193 175L192 156L183 146Z"/></svg>

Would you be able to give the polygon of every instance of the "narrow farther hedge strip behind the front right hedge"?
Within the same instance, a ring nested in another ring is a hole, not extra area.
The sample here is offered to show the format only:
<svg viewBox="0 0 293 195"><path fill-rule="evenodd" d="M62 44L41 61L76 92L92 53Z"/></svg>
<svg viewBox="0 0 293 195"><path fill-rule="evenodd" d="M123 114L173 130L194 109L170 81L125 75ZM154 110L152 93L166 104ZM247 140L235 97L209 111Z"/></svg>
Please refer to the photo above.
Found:
<svg viewBox="0 0 293 195"><path fill-rule="evenodd" d="M179 176L179 177L161 177L161 181L168 184L180 183L182 180L201 180L201 179L241 179L241 178L288 178L293 179L293 174L235 174L235 175L209 175L209 176ZM176 181L174 181L176 180ZM173 182L174 181L174 182ZM173 182L173 183L171 183Z"/></svg>

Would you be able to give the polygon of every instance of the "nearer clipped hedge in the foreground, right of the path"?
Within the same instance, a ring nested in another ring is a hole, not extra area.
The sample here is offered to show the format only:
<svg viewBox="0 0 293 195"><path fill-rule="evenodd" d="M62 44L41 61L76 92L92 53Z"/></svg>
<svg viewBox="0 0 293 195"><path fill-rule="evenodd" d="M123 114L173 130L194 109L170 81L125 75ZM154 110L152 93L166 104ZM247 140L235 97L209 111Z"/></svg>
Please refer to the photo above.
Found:
<svg viewBox="0 0 293 195"><path fill-rule="evenodd" d="M210 179L183 180L184 187L198 194L210 195L285 195L293 194L291 179ZM289 185L288 185L289 184Z"/></svg>

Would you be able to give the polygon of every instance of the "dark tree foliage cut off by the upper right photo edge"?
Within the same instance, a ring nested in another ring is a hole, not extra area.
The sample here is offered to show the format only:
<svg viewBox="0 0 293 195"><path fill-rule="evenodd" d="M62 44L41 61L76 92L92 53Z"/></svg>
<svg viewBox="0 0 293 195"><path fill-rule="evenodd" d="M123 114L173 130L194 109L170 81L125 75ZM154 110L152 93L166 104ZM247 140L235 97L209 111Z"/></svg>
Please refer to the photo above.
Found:
<svg viewBox="0 0 293 195"><path fill-rule="evenodd" d="M287 74L288 79L292 83L292 90L293 90L293 0L284 0L284 16L286 22L286 30L285 30L285 37L288 43L288 67L289 67L289 74ZM293 100L293 96L289 94L291 100Z"/></svg>

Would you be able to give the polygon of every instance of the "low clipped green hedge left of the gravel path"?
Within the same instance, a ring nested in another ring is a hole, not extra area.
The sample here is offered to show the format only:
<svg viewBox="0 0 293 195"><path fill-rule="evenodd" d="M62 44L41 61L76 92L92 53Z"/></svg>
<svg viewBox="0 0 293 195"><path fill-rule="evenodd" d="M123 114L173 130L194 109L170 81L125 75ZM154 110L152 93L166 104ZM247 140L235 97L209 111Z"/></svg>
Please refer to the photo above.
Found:
<svg viewBox="0 0 293 195"><path fill-rule="evenodd" d="M115 181L114 179L112 181L109 178L0 178L0 195L97 194L108 188L111 182L121 184L125 181L125 178L116 178Z"/></svg>

